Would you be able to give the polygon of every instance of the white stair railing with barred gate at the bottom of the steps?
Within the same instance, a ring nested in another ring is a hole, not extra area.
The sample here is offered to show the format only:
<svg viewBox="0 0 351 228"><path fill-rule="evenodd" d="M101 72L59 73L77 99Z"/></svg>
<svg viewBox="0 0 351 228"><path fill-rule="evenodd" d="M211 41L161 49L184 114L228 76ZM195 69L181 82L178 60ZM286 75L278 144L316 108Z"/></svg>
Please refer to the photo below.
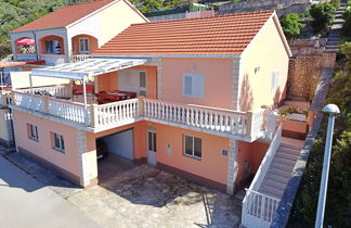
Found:
<svg viewBox="0 0 351 228"><path fill-rule="evenodd" d="M272 163L272 160L282 141L282 124L276 130L273 140L258 168L255 178L246 189L243 200L242 224L246 227L270 227L280 200L257 192Z"/></svg>

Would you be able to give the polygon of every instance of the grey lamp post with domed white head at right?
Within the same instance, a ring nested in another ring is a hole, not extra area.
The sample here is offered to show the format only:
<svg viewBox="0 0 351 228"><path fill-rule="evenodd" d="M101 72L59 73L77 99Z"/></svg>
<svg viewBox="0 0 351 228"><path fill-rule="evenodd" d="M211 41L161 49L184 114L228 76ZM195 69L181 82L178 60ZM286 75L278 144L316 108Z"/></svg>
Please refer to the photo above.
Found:
<svg viewBox="0 0 351 228"><path fill-rule="evenodd" d="M324 210L325 210L326 193L327 193L327 187L328 187L329 166L330 166L334 121L335 121L335 116L340 113L339 107L335 104L328 104L328 105L324 106L324 109L322 111L324 113L328 113L329 118L328 118L327 137L326 137L326 141L325 141L322 179L321 179L321 187L320 187L318 207L317 207L317 214L316 214L316 219L315 219L315 228L323 227Z"/></svg>

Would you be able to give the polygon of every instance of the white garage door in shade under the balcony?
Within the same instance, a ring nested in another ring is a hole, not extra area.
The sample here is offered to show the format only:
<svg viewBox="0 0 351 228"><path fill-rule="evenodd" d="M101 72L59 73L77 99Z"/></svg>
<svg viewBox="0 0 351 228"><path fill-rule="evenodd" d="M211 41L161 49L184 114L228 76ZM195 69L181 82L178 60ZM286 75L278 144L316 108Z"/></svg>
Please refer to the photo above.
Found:
<svg viewBox="0 0 351 228"><path fill-rule="evenodd" d="M103 140L106 142L109 153L117 154L131 161L134 160L132 129L106 136Z"/></svg>

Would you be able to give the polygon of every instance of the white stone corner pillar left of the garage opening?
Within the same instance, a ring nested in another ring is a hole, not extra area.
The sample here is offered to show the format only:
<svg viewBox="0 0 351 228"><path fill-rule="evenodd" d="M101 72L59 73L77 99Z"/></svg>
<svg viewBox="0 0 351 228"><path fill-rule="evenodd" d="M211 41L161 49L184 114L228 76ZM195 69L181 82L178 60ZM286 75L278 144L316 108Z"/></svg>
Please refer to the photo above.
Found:
<svg viewBox="0 0 351 228"><path fill-rule="evenodd" d="M77 129L78 143L78 165L80 170L80 185L86 187L90 185L89 157L87 153L86 131Z"/></svg>

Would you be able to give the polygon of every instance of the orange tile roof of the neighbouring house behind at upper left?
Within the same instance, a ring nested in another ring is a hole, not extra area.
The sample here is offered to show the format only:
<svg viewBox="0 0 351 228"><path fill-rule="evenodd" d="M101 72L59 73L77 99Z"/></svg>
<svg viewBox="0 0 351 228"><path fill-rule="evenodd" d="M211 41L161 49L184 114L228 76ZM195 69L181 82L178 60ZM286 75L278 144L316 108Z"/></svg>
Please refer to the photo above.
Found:
<svg viewBox="0 0 351 228"><path fill-rule="evenodd" d="M12 30L12 33L65 27L113 1L114 0L95 0L92 2L60 8L52 13L49 13L36 21Z"/></svg>

